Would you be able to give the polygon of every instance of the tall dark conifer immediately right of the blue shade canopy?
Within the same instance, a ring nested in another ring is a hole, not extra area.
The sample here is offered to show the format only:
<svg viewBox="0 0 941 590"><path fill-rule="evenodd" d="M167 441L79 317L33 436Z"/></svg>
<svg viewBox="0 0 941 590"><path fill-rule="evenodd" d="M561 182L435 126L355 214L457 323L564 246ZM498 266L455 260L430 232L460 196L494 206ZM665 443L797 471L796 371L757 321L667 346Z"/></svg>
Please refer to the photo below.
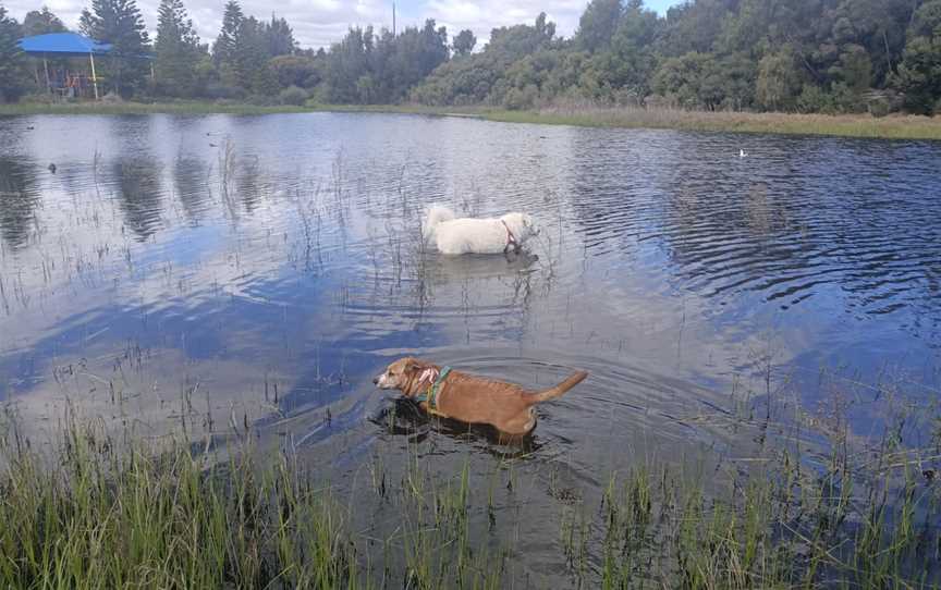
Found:
<svg viewBox="0 0 941 590"><path fill-rule="evenodd" d="M145 57L150 42L135 0L93 0L91 10L82 11L80 28L88 37L113 46L106 77L121 96L134 94L147 75Z"/></svg>

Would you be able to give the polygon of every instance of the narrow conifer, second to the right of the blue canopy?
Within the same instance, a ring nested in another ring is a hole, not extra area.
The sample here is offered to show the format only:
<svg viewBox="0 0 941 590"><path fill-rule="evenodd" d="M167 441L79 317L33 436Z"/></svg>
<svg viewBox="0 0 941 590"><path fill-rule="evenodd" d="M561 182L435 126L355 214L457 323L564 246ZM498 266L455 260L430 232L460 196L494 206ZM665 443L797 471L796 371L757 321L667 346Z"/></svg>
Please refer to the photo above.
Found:
<svg viewBox="0 0 941 590"><path fill-rule="evenodd" d="M169 96L192 96L196 66L203 57L199 36L182 0L161 0L154 44L158 89Z"/></svg>

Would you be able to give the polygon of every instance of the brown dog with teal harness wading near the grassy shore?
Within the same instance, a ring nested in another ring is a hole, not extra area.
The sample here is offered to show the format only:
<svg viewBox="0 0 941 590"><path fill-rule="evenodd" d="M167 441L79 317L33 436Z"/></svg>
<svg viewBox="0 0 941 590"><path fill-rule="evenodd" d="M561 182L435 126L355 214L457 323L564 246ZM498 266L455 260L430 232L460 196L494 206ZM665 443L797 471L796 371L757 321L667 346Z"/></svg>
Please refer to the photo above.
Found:
<svg viewBox="0 0 941 590"><path fill-rule="evenodd" d="M513 383L482 379L417 358L400 358L372 380L399 390L429 414L468 423L490 425L504 434L528 434L536 428L533 406L559 397L588 373L577 371L554 388L530 392Z"/></svg>

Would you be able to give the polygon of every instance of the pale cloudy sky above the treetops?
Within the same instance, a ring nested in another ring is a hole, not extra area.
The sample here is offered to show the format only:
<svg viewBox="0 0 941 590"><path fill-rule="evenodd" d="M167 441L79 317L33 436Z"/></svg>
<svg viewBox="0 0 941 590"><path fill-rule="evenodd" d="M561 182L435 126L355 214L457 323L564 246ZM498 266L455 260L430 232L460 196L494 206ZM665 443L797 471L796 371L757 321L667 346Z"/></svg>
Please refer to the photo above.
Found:
<svg viewBox="0 0 941 590"><path fill-rule="evenodd" d="M78 14L90 0L0 0L17 21L42 4L49 7L66 26L77 27ZM184 0L196 30L204 42L211 42L222 23L225 0ZM435 19L448 27L450 35L469 28L478 44L486 42L490 29L518 23L531 23L545 11L555 22L562 36L570 36L578 26L578 17L587 0L396 0L398 27L419 25ZM681 0L647 0L647 5L661 14ZM137 0L147 28L157 27L159 0ZM346 29L355 25L392 28L391 0L242 0L245 14L268 19L271 13L284 16L294 28L294 37L302 47L328 47L340 40Z"/></svg>

